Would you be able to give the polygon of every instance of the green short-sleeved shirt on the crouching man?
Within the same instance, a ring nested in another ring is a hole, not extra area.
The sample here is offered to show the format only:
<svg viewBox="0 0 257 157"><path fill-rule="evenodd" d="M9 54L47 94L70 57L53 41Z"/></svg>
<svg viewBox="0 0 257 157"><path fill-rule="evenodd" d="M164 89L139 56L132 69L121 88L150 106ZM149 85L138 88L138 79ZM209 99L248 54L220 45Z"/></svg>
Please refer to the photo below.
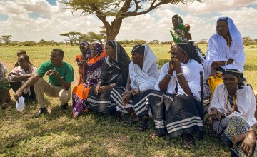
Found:
<svg viewBox="0 0 257 157"><path fill-rule="evenodd" d="M49 70L55 70L59 73L59 76L64 79L67 83L71 83L74 81L74 70L70 64L67 64L66 62L62 62L61 67L55 67L53 64L51 64L51 61L46 61L44 64L41 64L39 67L37 74L39 74L41 77L43 77L46 73L46 71ZM54 84L55 86L61 86L56 76L49 76L49 83Z"/></svg>

